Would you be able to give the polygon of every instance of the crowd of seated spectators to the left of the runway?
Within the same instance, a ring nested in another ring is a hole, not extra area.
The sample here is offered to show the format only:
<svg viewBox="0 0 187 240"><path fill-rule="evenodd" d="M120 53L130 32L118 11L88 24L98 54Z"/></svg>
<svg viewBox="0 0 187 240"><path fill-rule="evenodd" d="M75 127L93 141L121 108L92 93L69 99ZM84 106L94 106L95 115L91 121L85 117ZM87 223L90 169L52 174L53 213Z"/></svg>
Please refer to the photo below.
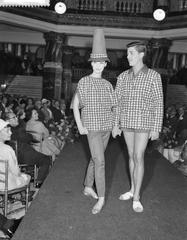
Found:
<svg viewBox="0 0 187 240"><path fill-rule="evenodd" d="M64 99L1 96L0 158L8 161L9 190L31 181L29 173L22 172L22 165L37 167L37 179L33 187L41 187L64 144L73 143L79 137L70 111L67 111ZM4 189L2 184L0 189ZM29 201L32 201L33 192L30 193ZM12 224L17 227L16 221L12 220ZM14 233L13 228L8 227L7 231L4 225L0 229L9 237Z"/></svg>

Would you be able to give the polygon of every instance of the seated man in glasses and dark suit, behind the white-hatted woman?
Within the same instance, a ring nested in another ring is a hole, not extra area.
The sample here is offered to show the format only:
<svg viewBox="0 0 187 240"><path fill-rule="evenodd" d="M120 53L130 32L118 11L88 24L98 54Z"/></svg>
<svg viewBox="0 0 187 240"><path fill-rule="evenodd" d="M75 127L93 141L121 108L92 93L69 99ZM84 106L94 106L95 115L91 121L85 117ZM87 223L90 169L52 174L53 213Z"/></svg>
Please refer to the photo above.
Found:
<svg viewBox="0 0 187 240"><path fill-rule="evenodd" d="M40 187L45 180L51 165L51 158L37 152L30 145L33 141L32 135L19 125L14 113L5 114L5 120L10 124L12 130L11 140L17 142L17 158L19 164L37 165L39 168L37 186Z"/></svg>

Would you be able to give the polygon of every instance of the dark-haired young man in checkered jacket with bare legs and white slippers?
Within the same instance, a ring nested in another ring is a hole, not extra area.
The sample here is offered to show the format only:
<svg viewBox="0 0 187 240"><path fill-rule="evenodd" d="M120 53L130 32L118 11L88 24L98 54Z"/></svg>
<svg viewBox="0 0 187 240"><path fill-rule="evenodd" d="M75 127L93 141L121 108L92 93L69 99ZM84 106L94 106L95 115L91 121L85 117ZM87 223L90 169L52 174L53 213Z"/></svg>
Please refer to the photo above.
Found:
<svg viewBox="0 0 187 240"><path fill-rule="evenodd" d="M123 132L130 169L130 190L120 200L133 199L133 210L142 212L140 191L144 176L144 153L148 140L159 137L163 121L161 76L144 64L147 48L141 41L127 45L129 70L118 76L115 92L118 98L113 137Z"/></svg>

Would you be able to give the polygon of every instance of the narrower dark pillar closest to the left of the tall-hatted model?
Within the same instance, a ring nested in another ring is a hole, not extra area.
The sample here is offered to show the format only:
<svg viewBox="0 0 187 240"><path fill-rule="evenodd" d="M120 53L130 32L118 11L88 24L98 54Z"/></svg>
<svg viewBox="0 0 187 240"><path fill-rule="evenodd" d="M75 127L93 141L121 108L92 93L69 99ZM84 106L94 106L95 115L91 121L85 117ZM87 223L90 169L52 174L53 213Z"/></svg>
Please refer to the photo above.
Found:
<svg viewBox="0 0 187 240"><path fill-rule="evenodd" d="M72 94L72 56L73 47L65 46L63 50L63 83L62 96L66 103L70 103Z"/></svg>

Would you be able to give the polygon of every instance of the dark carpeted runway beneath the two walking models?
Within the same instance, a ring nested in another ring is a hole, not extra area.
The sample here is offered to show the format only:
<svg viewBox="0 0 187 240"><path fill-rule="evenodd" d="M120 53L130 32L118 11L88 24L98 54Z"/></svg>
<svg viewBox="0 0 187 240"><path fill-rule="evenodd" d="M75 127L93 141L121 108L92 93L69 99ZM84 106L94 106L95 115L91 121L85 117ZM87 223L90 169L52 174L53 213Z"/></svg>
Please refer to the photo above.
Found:
<svg viewBox="0 0 187 240"><path fill-rule="evenodd" d="M64 147L32 202L14 240L183 240L187 236L187 178L156 151L147 152L143 213L120 201L129 189L127 153L121 138L106 150L106 205L92 215L95 200L82 194L88 147Z"/></svg>

